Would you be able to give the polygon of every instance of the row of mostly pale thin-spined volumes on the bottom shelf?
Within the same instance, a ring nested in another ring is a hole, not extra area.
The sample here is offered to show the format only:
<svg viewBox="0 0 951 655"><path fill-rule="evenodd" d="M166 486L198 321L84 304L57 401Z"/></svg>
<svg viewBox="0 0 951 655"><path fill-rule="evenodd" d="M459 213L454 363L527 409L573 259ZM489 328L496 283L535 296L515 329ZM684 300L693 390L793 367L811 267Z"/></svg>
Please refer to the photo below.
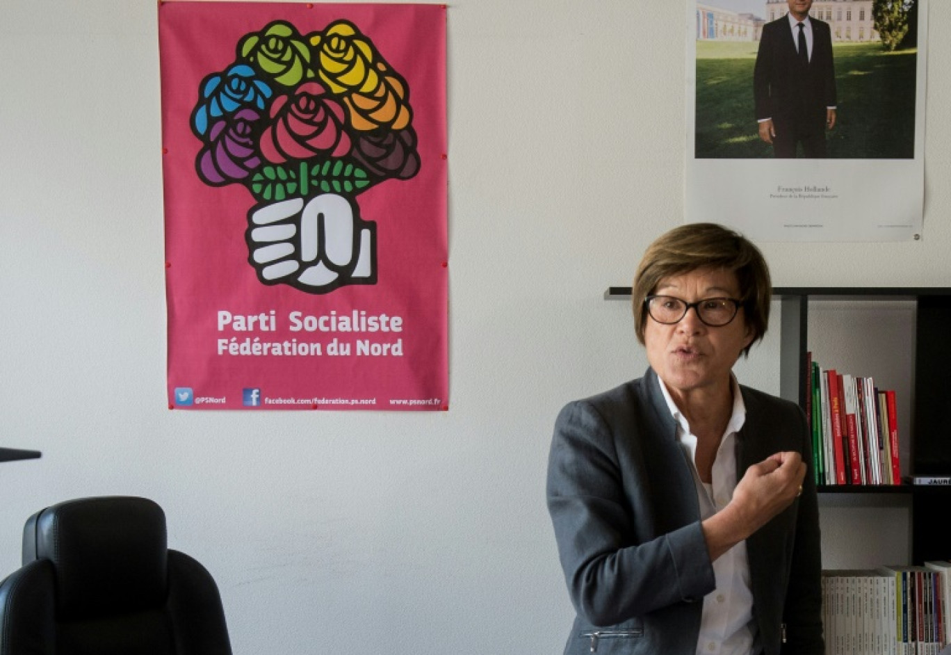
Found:
<svg viewBox="0 0 951 655"><path fill-rule="evenodd" d="M949 561L824 570L825 655L938 655L949 603Z"/></svg>

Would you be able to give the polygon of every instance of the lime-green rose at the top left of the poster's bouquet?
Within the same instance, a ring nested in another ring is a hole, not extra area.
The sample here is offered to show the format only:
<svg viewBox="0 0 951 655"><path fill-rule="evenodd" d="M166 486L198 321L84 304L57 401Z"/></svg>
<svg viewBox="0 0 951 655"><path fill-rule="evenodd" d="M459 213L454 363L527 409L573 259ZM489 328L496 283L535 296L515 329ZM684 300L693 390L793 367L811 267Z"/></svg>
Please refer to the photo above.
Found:
<svg viewBox="0 0 951 655"><path fill-rule="evenodd" d="M261 32L248 34L238 50L244 59L257 64L284 87L294 87L314 77L310 69L310 48L289 23L275 21Z"/></svg>

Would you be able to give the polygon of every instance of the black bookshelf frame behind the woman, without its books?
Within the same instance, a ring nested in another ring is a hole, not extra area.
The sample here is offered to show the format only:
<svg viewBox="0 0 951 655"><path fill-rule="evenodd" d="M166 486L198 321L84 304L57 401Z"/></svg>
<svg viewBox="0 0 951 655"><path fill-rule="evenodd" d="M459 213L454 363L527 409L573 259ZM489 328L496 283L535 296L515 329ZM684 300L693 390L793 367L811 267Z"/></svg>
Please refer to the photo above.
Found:
<svg viewBox="0 0 951 655"><path fill-rule="evenodd" d="M605 299L631 299L631 287L609 287ZM904 347L912 357L913 400L906 404L909 429L902 433L908 455L902 460L902 475L951 474L951 435L948 424L948 385L943 380L951 371L951 287L774 287L773 298L780 302L780 395L805 408L806 352L809 342L809 311L816 303L838 301L864 303L904 301L914 308L914 335ZM776 329L773 325L771 328ZM901 494L911 509L910 564L925 560L951 559L951 546L939 535L936 517L951 505L949 487L844 485L820 486L825 496L862 494L867 502ZM885 501L887 504L889 501Z"/></svg>

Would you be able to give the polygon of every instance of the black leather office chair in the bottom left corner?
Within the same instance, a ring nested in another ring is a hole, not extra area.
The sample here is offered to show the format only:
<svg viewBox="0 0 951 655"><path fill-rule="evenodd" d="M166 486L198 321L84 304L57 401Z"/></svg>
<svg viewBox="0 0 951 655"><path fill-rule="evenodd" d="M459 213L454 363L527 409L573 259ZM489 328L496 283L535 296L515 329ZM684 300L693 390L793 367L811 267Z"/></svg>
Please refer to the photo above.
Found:
<svg viewBox="0 0 951 655"><path fill-rule="evenodd" d="M0 582L0 655L231 655L218 587L166 548L146 498L69 500L29 517Z"/></svg>

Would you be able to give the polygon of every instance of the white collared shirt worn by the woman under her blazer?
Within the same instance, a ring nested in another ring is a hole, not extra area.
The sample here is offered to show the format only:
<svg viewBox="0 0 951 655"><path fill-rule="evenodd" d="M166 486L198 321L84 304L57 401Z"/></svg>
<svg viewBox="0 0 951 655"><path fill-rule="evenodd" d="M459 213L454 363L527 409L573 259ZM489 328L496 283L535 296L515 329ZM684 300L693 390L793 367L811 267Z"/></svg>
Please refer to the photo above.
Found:
<svg viewBox="0 0 951 655"><path fill-rule="evenodd" d="M697 437L690 433L687 417L677 408L664 381L660 390L670 414L677 421L677 438L687 455L693 483L700 501L700 518L707 519L727 506L736 489L736 433L747 419L747 408L736 377L730 376L733 389L733 413L720 439L713 460L712 484L700 480L695 464ZM713 562L716 588L704 596L697 655L749 655L760 649L758 630L753 620L753 593L749 588L747 543L741 541ZM755 650L754 650L755 648Z"/></svg>

